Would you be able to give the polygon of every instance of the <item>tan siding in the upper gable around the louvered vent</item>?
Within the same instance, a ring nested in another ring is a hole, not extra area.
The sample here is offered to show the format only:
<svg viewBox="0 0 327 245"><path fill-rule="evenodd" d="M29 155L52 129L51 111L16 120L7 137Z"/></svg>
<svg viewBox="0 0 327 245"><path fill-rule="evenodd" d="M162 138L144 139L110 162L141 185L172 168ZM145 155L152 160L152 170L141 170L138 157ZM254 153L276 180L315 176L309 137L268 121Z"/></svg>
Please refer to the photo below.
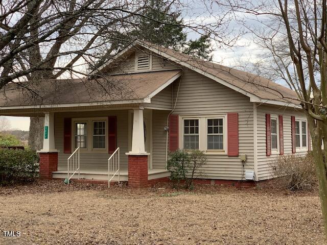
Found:
<svg viewBox="0 0 327 245"><path fill-rule="evenodd" d="M171 61L168 61L156 55L152 55L152 69L144 71L167 70L176 68L178 68L178 66L176 64L173 64ZM141 70L141 72L144 71ZM140 72L135 70L135 52L126 57L122 61L122 64L113 68L110 73L121 74L125 72Z"/></svg>

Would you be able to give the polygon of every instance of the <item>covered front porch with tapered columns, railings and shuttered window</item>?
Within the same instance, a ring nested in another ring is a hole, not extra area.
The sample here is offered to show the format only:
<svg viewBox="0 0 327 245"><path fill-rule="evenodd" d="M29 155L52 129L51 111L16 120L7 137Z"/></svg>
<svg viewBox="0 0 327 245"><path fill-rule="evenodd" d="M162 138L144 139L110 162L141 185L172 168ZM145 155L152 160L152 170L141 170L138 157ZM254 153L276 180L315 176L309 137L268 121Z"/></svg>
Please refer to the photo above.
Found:
<svg viewBox="0 0 327 245"><path fill-rule="evenodd" d="M167 110L138 106L44 115L39 151L42 178L120 180L142 187L170 176L164 130ZM56 158L57 166L43 167L43 162L51 165Z"/></svg>

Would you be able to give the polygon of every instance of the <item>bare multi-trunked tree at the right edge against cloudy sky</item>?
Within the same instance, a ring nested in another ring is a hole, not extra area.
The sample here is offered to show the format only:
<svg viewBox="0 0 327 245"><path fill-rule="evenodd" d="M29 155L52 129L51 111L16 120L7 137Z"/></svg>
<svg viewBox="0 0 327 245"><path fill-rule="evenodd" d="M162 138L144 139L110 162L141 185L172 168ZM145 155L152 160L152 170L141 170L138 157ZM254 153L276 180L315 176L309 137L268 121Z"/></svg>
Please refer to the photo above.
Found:
<svg viewBox="0 0 327 245"><path fill-rule="evenodd" d="M307 115L327 234L326 1L214 1L263 48L259 73L296 91ZM323 144L323 145L322 145Z"/></svg>

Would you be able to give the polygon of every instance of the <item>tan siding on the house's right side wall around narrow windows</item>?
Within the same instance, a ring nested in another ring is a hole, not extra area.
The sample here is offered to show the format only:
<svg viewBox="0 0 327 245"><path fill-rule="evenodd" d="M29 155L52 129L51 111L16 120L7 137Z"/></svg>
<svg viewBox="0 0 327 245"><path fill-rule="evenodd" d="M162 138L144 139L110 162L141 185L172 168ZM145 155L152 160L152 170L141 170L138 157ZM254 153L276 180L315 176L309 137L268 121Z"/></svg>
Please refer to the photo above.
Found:
<svg viewBox="0 0 327 245"><path fill-rule="evenodd" d="M258 121L258 180L271 179L270 164L279 156L272 154L266 156L266 113L271 115L283 115L284 154L292 154L291 116L305 119L306 116L300 109L292 109L277 106L260 105L257 108ZM307 152L297 152L296 155L305 155Z"/></svg>

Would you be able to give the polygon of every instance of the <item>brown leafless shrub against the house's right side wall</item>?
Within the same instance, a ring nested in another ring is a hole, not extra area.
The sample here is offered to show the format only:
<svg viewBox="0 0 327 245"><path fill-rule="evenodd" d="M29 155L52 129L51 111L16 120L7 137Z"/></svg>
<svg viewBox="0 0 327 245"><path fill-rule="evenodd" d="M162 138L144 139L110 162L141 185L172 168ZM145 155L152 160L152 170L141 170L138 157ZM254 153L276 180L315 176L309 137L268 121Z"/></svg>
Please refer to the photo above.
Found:
<svg viewBox="0 0 327 245"><path fill-rule="evenodd" d="M310 190L317 187L314 159L307 156L285 155L271 163L272 176L277 177L275 184L288 190Z"/></svg>

